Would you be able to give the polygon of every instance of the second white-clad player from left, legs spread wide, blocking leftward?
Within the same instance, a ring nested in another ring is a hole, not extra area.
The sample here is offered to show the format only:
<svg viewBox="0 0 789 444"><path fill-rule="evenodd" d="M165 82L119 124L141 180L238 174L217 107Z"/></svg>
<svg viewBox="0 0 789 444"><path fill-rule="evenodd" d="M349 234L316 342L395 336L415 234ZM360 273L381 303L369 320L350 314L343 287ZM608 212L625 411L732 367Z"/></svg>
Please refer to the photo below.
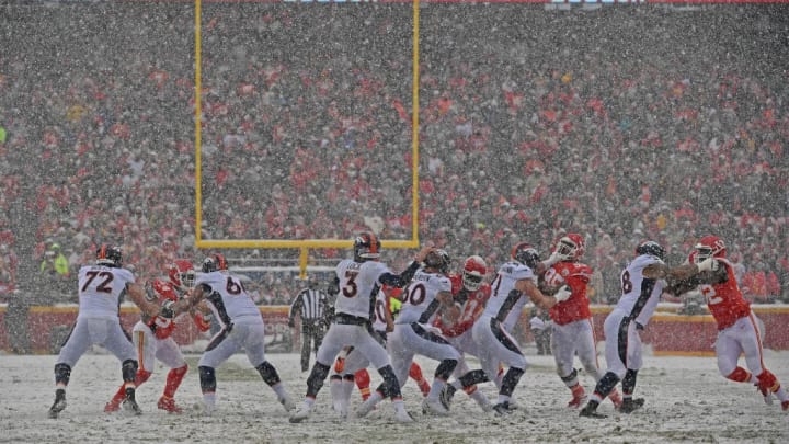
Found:
<svg viewBox="0 0 789 444"><path fill-rule="evenodd" d="M285 410L295 409L276 368L266 361L263 317L241 280L228 271L227 261L219 253L206 258L202 271L195 278L192 296L172 304L171 308L178 315L194 308L205 298L221 325L221 330L208 343L197 363L205 413L210 415L216 410L216 367L242 349Z"/></svg>

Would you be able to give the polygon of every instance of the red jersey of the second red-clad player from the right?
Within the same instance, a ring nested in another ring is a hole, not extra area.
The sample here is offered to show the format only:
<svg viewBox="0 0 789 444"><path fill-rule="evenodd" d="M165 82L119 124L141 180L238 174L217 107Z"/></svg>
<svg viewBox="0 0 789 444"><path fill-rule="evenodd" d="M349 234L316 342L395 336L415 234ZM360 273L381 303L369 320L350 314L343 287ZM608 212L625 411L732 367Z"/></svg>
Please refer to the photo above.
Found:
<svg viewBox="0 0 789 444"><path fill-rule="evenodd" d="M545 281L552 287L567 284L572 294L568 300L554 305L549 314L553 322L564 326L592 317L586 286L592 278L592 269L579 262L559 262L545 273Z"/></svg>

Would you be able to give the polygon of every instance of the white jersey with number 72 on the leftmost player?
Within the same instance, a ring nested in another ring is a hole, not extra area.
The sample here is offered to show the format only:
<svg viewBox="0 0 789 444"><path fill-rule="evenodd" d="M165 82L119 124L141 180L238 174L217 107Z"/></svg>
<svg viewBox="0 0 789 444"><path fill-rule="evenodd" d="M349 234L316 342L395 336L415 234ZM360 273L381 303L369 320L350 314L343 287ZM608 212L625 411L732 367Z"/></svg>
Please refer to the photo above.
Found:
<svg viewBox="0 0 789 444"><path fill-rule="evenodd" d="M126 285L135 282L126 269L84 265L78 274L79 316L118 317Z"/></svg>

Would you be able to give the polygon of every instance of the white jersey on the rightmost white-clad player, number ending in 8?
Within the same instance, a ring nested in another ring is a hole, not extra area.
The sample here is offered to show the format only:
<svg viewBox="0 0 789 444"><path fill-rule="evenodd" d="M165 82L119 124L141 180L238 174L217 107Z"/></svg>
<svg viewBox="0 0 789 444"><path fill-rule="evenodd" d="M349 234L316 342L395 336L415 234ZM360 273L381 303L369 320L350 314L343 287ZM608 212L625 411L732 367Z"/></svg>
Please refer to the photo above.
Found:
<svg viewBox="0 0 789 444"><path fill-rule="evenodd" d="M616 309L625 311L630 319L642 326L647 326L652 318L665 286L664 280L650 280L643 276L643 269L653 263L662 264L663 261L653 255L641 254L628 264L619 277L622 296Z"/></svg>

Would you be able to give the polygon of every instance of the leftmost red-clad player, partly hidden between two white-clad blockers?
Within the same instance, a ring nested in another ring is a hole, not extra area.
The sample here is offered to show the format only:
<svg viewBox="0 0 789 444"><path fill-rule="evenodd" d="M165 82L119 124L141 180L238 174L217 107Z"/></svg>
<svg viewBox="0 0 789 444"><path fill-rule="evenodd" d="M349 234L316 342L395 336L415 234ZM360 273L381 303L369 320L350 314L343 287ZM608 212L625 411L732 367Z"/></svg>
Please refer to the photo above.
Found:
<svg viewBox="0 0 789 444"><path fill-rule="evenodd" d="M168 270L169 280L157 278L147 288L147 298L150 301L159 301L163 304L168 300L176 301L183 297L188 297L195 280L195 272L192 262L187 260L176 260ZM194 322L201 331L210 329L210 309L205 303L197 306L193 312ZM150 378L153 373L155 360L161 361L170 367L164 384L164 392L159 398L157 407L171 413L181 413L181 408L175 405L175 390L181 385L181 380L188 366L181 349L172 338L175 329L175 322L171 318L162 316L142 315L140 320L135 325L133 330L133 340L137 349L139 360L139 368L137 369L135 384L139 387ZM121 408L124 399L124 387L113 396L112 400L104 406L105 412L114 412Z"/></svg>

